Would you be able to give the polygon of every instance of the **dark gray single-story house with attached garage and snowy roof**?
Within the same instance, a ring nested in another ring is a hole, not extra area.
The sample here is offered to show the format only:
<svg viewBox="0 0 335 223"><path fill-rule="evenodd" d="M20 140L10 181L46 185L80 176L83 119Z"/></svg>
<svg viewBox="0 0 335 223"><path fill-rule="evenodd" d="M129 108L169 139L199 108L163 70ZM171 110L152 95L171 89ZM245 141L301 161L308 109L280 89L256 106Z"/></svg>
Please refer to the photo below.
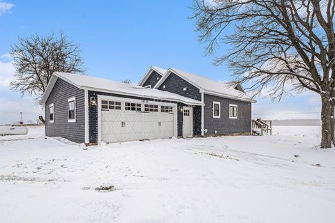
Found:
<svg viewBox="0 0 335 223"><path fill-rule="evenodd" d="M251 103L228 86L152 66L138 85L55 72L40 100L45 135L85 144L251 134Z"/></svg>

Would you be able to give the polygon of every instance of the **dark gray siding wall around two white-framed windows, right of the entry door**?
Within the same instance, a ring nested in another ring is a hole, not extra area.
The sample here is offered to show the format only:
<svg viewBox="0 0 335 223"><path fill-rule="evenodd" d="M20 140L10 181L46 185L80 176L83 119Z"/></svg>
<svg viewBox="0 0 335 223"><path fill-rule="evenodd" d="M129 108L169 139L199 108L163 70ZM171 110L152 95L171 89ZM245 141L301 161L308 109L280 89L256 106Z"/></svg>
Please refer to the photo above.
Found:
<svg viewBox="0 0 335 223"><path fill-rule="evenodd" d="M221 103L221 118L213 118L213 102ZM204 134L251 132L251 102L204 94ZM237 118L229 118L229 104L237 105Z"/></svg>

